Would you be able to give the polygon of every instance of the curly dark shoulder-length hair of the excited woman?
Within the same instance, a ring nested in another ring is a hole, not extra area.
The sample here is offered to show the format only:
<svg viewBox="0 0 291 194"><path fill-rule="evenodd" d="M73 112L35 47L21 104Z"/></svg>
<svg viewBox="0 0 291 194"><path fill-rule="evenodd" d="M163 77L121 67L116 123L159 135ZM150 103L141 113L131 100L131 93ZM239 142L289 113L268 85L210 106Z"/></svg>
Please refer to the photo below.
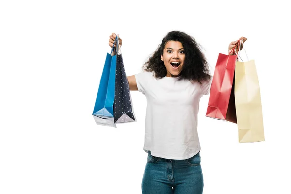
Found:
<svg viewBox="0 0 291 194"><path fill-rule="evenodd" d="M171 31L162 39L162 43L143 65L143 69L153 72L155 78L163 78L167 75L167 69L161 60L161 55L163 55L165 45L170 40L181 42L185 50L185 61L179 80L189 79L199 83L208 81L210 79L209 66L198 43L193 37L180 31Z"/></svg>

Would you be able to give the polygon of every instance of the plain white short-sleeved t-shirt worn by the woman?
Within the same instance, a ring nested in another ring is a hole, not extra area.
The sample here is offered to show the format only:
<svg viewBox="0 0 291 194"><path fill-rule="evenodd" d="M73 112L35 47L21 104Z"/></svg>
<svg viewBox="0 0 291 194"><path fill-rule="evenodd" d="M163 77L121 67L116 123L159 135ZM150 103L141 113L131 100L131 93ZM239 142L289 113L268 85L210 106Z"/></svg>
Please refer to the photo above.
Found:
<svg viewBox="0 0 291 194"><path fill-rule="evenodd" d="M152 72L135 75L138 90L146 95L144 150L151 155L183 160L200 151L197 133L199 101L208 95L212 82L156 79Z"/></svg>

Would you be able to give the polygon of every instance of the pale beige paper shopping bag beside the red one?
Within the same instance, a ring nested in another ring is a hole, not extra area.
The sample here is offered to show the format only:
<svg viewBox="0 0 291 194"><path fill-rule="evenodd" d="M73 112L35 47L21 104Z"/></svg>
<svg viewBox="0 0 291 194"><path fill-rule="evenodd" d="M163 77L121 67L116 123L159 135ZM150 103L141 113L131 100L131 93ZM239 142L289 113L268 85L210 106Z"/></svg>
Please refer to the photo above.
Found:
<svg viewBox="0 0 291 194"><path fill-rule="evenodd" d="M236 62L234 93L239 143L265 141L259 79L254 60Z"/></svg>

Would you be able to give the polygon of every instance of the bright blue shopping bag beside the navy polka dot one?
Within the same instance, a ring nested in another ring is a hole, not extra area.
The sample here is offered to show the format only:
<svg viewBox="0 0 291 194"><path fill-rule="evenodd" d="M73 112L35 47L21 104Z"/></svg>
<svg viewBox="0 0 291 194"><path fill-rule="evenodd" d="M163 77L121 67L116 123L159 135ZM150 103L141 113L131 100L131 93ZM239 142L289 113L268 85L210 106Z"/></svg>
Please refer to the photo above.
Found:
<svg viewBox="0 0 291 194"><path fill-rule="evenodd" d="M118 40L115 39L114 44ZM118 48L117 48L118 49ZM93 110L93 118L98 125L116 127L114 124L114 98L115 98L115 75L116 75L116 58L113 55L115 47L111 53L107 53L103 67L100 84L97 92L97 98Z"/></svg>

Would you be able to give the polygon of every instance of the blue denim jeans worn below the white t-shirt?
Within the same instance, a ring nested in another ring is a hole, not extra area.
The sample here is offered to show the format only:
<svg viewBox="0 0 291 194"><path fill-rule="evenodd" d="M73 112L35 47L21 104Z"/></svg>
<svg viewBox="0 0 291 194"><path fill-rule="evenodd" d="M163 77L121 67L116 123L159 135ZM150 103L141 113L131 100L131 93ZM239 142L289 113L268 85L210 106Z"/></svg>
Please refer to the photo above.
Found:
<svg viewBox="0 0 291 194"><path fill-rule="evenodd" d="M142 180L143 194L202 194L200 154L186 160L147 156Z"/></svg>

